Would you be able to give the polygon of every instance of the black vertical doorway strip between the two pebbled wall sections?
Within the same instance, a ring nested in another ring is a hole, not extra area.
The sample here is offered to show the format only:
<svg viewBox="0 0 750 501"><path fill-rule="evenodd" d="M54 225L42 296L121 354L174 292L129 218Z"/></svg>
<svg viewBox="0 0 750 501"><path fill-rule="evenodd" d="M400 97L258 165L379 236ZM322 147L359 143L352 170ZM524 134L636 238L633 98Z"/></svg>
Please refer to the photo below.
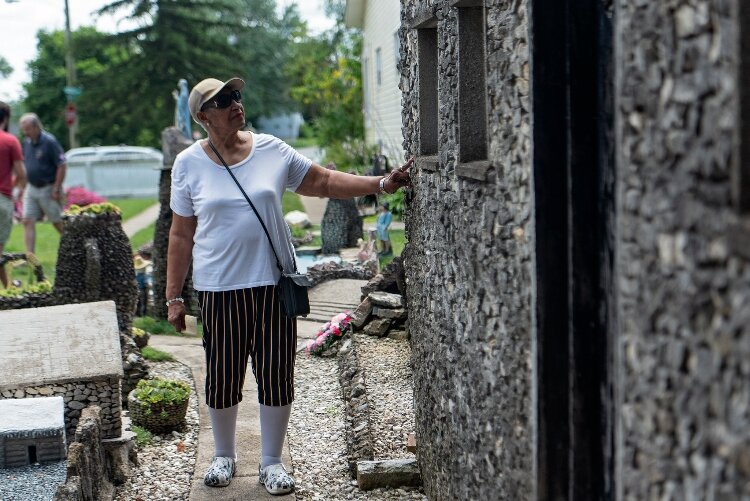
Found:
<svg viewBox="0 0 750 501"><path fill-rule="evenodd" d="M611 0L533 0L538 492L614 498Z"/></svg>

